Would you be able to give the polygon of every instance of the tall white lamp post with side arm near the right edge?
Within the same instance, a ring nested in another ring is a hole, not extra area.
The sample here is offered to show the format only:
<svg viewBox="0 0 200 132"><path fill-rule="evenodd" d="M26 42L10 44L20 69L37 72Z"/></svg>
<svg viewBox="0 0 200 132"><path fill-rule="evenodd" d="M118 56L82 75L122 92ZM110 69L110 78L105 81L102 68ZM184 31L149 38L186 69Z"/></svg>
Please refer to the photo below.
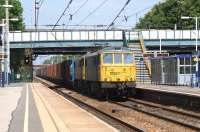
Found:
<svg viewBox="0 0 200 132"><path fill-rule="evenodd" d="M181 19L195 19L195 30L196 30L196 41L195 41L195 46L196 46L196 79L198 79L198 63L199 63L199 60L198 60L198 19L200 17L190 17L190 16L181 16ZM198 86L198 84L197 84Z"/></svg>

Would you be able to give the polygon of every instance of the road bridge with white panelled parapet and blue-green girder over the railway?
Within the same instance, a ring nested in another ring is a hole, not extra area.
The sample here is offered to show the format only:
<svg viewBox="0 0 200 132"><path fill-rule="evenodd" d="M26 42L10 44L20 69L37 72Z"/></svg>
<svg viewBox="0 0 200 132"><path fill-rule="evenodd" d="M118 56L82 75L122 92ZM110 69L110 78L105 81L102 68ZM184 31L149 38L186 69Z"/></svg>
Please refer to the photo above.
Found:
<svg viewBox="0 0 200 132"><path fill-rule="evenodd" d="M101 46L127 46L129 42L144 40L149 50L191 51L195 48L194 30L38 30L10 32L11 48L33 48L39 54L81 53ZM198 38L200 33L198 31ZM198 43L200 44L200 42ZM174 48L175 47L175 48Z"/></svg>

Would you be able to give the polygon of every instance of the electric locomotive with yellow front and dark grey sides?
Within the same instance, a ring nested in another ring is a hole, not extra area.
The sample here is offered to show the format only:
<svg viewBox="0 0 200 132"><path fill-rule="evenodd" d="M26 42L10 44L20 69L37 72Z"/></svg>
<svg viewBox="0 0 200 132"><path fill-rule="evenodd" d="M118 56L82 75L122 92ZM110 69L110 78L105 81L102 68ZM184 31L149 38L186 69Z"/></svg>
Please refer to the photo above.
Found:
<svg viewBox="0 0 200 132"><path fill-rule="evenodd" d="M75 87L100 97L135 93L136 63L126 47L108 47L75 61Z"/></svg>

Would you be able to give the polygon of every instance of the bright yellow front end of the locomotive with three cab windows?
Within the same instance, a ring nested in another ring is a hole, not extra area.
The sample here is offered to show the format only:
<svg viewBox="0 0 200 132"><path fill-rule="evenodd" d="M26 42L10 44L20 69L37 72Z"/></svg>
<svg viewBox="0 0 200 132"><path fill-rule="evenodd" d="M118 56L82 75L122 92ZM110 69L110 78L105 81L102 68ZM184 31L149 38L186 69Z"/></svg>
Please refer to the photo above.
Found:
<svg viewBox="0 0 200 132"><path fill-rule="evenodd" d="M136 86L136 64L132 51L114 50L100 55L100 82L103 88L134 93Z"/></svg>

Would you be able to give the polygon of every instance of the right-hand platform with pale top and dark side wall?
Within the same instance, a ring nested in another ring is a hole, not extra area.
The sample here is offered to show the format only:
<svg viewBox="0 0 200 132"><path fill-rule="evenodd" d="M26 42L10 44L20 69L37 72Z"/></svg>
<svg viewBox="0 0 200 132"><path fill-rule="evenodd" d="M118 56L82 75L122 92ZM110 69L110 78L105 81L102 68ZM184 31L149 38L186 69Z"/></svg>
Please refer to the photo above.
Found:
<svg viewBox="0 0 200 132"><path fill-rule="evenodd" d="M139 99L200 112L200 88L137 84L136 93Z"/></svg>

